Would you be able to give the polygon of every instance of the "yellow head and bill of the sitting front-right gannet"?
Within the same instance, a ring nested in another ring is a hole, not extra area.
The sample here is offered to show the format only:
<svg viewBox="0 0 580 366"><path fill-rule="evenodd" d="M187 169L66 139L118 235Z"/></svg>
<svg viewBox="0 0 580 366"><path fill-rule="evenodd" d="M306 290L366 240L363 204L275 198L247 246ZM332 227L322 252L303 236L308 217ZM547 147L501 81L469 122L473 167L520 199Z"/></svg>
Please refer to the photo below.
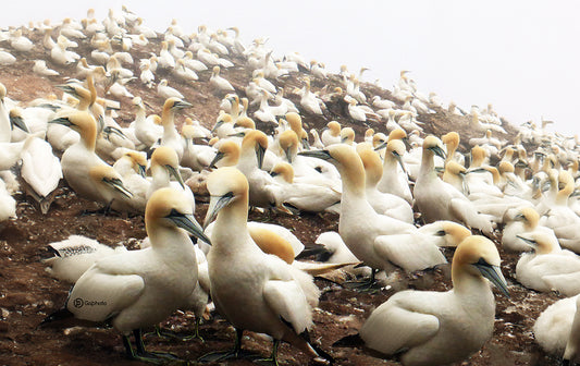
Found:
<svg viewBox="0 0 580 366"><path fill-rule="evenodd" d="M462 273L472 277L484 277L509 297L507 283L499 268L501 258L492 241L484 236L466 237L455 251L452 263L452 281L460 288Z"/></svg>

